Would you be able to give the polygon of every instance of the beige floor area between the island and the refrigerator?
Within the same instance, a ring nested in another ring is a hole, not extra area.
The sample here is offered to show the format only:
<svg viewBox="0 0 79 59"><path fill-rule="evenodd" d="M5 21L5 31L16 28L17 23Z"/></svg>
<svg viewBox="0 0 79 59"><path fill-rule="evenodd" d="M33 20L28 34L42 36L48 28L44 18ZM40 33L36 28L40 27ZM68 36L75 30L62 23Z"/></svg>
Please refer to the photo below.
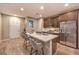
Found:
<svg viewBox="0 0 79 59"><path fill-rule="evenodd" d="M79 55L79 49L70 48L58 43L55 55Z"/></svg>

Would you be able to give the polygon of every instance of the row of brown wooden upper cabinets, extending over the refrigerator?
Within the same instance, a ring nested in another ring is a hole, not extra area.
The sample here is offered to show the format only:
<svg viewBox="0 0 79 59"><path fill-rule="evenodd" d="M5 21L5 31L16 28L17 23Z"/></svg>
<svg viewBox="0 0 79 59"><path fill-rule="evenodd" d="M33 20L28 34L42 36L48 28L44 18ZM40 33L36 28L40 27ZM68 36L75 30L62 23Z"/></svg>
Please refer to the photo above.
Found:
<svg viewBox="0 0 79 59"><path fill-rule="evenodd" d="M77 20L77 11L67 12L57 17L44 19L44 27L59 27L61 21Z"/></svg>

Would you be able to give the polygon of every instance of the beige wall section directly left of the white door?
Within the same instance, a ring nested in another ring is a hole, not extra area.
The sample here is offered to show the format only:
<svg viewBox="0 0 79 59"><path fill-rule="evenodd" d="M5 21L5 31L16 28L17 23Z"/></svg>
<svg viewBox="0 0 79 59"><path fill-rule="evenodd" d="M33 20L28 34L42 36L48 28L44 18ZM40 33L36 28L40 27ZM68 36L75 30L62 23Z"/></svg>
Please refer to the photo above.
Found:
<svg viewBox="0 0 79 59"><path fill-rule="evenodd" d="M2 15L2 37L9 38L9 16Z"/></svg>

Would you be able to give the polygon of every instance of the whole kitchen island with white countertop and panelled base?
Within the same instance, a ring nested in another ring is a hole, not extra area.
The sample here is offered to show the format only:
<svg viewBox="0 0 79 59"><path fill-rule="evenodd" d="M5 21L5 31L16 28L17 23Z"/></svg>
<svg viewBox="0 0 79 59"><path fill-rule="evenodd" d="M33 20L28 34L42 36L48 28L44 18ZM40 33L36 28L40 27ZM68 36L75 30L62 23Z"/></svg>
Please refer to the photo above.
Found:
<svg viewBox="0 0 79 59"><path fill-rule="evenodd" d="M56 38L58 35L52 34L39 34L39 33L26 33L27 35L35 38L36 40L42 42L44 55L52 55L56 48Z"/></svg>

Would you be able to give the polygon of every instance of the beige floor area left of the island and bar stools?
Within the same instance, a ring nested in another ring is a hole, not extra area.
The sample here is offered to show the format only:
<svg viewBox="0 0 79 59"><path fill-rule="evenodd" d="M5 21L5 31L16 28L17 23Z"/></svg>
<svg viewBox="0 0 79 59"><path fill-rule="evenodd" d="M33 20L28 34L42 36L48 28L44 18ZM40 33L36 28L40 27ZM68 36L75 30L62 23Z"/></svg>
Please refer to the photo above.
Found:
<svg viewBox="0 0 79 59"><path fill-rule="evenodd" d="M0 55L28 55L24 39L10 39L0 43Z"/></svg>

